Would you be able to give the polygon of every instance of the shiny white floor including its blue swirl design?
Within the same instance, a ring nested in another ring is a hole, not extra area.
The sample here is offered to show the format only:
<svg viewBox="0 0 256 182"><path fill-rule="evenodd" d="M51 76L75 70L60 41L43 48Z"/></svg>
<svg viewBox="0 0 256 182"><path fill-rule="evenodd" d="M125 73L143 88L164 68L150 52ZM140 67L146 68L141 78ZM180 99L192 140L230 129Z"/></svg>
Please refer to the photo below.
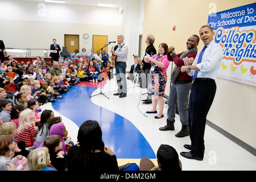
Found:
<svg viewBox="0 0 256 182"><path fill-rule="evenodd" d="M127 97L113 96L117 92L115 79L103 83L81 82L73 86L61 100L44 104L42 109L51 109L55 115L61 115L69 135L76 143L76 136L82 122L93 119L100 123L103 140L112 148L121 166L127 162L139 164L146 156L156 164L156 151L160 144L169 144L178 154L186 150L183 145L190 144L189 137L176 138L180 131L179 115L176 115L175 131L159 131L166 125L167 105L164 118L155 119L154 114L145 114L151 105L142 105L146 99L146 89L127 81ZM99 94L102 93L102 94ZM90 98L90 96L93 96ZM107 98L108 97L108 98ZM203 161L189 160L180 156L183 170L255 170L256 158L236 143L224 137L211 127L205 129L205 155Z"/></svg>

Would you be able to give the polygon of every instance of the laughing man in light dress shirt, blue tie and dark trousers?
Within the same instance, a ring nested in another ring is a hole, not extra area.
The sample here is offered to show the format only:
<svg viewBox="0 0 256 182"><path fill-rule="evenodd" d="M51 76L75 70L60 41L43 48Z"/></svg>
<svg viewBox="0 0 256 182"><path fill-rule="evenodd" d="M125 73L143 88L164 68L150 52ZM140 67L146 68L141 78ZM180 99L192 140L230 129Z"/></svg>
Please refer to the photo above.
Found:
<svg viewBox="0 0 256 182"><path fill-rule="evenodd" d="M191 94L189 96L189 136L191 145L184 147L189 152L180 152L180 155L188 159L203 160L204 158L204 131L207 114L212 105L215 93L218 70L221 67L224 51L222 47L213 40L212 27L200 28L200 39L205 47L197 53L196 59L192 57L192 65L181 67L181 72L188 72L193 76Z"/></svg>

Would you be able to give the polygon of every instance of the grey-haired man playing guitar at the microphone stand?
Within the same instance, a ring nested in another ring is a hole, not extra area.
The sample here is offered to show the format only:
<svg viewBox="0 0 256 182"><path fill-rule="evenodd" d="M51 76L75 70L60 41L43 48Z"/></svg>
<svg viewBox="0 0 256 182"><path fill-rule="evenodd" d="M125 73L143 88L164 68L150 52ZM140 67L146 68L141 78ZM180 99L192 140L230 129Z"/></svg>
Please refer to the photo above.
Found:
<svg viewBox="0 0 256 182"><path fill-rule="evenodd" d="M126 61L128 59L128 46L123 43L123 35L117 36L118 45L114 47L110 52L112 53L112 61L115 57L115 78L117 79L118 90L114 93L114 96L119 98L126 97L127 95L127 83L126 83Z"/></svg>

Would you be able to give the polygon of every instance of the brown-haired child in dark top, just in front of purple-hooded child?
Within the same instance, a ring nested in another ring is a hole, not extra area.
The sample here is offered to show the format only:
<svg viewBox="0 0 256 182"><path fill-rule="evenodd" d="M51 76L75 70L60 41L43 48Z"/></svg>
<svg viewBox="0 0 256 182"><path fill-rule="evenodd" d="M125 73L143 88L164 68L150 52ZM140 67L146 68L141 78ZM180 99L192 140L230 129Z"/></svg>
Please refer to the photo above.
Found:
<svg viewBox="0 0 256 182"><path fill-rule="evenodd" d="M52 166L58 171L65 170L67 155L64 151L59 151L62 148L62 140L59 135L51 135L44 140L44 147L49 150Z"/></svg>

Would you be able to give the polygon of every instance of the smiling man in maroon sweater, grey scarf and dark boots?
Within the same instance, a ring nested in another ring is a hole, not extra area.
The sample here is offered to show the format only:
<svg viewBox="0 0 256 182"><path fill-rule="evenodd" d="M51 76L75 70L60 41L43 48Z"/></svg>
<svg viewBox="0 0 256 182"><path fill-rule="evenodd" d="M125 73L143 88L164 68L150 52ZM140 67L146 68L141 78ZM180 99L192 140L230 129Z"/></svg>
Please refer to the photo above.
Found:
<svg viewBox="0 0 256 182"><path fill-rule="evenodd" d="M180 115L181 130L175 137L185 137L189 135L188 128L188 97L192 85L192 76L187 72L181 73L181 67L191 65L189 57L195 59L197 55L197 46L199 44L199 36L192 35L187 40L187 51L175 54L174 47L170 47L168 51L168 60L174 61L175 68L171 75L171 89L168 98L167 125L160 127L160 131L174 130L176 104Z"/></svg>

